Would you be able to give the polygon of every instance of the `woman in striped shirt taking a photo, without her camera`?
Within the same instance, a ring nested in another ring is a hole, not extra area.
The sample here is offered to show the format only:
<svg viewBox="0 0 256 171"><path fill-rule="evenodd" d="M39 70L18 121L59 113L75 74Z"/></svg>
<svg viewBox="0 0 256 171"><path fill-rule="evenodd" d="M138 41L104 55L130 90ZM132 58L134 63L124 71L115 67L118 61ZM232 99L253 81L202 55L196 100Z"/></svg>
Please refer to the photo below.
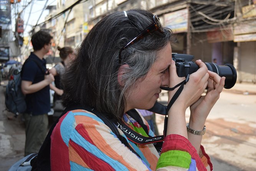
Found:
<svg viewBox="0 0 256 171"><path fill-rule="evenodd" d="M175 87L185 79L177 76L172 43L172 31L164 28L156 15L140 9L115 12L92 28L62 77L63 105L78 104L81 108L66 112L51 134L52 171L213 169L201 139L225 77L208 71L201 61L196 61L200 68L190 75L168 110L160 155L152 143L136 144L117 128L128 140L129 145L124 145L95 115L100 113L115 125L122 123L140 135L154 136L128 112L152 108L160 87ZM201 96L206 87L206 95ZM177 89L168 92L168 102ZM188 107L191 114L187 127Z"/></svg>

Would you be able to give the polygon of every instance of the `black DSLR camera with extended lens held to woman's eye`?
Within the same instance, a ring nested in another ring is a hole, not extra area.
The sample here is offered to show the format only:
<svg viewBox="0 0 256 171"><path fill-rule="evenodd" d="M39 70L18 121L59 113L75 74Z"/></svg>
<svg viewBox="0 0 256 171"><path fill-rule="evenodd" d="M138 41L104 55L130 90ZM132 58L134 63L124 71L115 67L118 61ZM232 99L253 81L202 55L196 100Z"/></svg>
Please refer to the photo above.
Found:
<svg viewBox="0 0 256 171"><path fill-rule="evenodd" d="M179 77L187 77L188 74L192 74L199 69L199 66L192 61L194 59L193 55L172 53L172 59L175 61ZM218 66L218 64L211 62L205 62L205 65L209 71L217 73L220 77L226 77L225 89L230 89L236 84L237 74L233 65Z"/></svg>

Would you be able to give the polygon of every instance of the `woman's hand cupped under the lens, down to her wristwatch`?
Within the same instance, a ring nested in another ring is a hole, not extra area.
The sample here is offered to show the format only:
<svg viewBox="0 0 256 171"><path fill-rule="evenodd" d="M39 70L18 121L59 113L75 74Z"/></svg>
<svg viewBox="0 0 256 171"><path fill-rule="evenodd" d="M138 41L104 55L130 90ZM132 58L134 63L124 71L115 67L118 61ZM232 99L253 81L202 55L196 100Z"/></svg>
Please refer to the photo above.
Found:
<svg viewBox="0 0 256 171"><path fill-rule="evenodd" d="M190 105L189 124L202 126L210 113L213 105L220 98L220 93L225 84L225 77L220 77L215 72L208 71L208 89L205 96L201 96L194 104Z"/></svg>

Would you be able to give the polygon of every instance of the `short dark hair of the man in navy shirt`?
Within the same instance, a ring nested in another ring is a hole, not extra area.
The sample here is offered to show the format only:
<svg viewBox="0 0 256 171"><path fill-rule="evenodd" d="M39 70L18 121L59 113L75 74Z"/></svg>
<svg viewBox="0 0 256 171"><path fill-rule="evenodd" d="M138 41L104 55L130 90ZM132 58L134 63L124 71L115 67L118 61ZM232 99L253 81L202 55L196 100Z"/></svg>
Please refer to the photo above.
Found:
<svg viewBox="0 0 256 171"><path fill-rule="evenodd" d="M45 44L51 43L51 39L53 39L53 37L45 31L38 31L33 34L31 37L31 43L34 51L38 51L42 49Z"/></svg>

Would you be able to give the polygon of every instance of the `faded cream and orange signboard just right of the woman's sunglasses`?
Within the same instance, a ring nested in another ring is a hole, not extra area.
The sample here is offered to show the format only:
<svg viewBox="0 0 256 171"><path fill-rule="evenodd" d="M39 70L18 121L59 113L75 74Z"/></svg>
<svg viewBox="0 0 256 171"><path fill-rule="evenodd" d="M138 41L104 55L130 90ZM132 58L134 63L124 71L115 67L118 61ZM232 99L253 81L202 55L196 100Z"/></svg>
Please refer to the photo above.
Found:
<svg viewBox="0 0 256 171"><path fill-rule="evenodd" d="M178 10L164 15L164 25L172 29L173 33L188 31L188 9Z"/></svg>

